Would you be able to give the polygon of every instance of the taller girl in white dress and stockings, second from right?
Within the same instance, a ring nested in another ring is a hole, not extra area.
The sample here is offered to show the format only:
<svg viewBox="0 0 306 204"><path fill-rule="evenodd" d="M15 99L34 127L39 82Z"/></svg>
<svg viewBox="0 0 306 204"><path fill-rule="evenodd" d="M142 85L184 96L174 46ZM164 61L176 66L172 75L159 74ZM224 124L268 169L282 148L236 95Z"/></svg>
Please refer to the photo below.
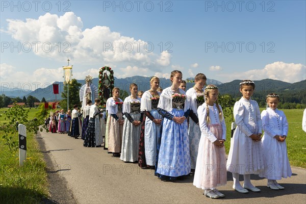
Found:
<svg viewBox="0 0 306 204"><path fill-rule="evenodd" d="M262 120L257 102L251 99L255 89L254 82L244 80L239 85L242 97L234 106L237 127L231 139L226 168L233 173L233 188L236 191L259 192L260 189L251 184L250 174L259 174L259 171L264 168L261 142ZM243 187L239 183L239 174L243 174Z"/></svg>

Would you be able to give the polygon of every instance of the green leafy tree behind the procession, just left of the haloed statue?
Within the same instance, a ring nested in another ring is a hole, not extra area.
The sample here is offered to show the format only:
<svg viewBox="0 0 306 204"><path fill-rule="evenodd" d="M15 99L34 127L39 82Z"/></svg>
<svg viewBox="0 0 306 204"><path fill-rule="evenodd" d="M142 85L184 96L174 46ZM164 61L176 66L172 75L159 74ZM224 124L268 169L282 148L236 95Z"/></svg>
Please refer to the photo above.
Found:
<svg viewBox="0 0 306 204"><path fill-rule="evenodd" d="M77 104L81 108L81 101L80 101L80 87L82 84L78 83L77 80L72 79L71 84L69 84L69 109L71 110L73 105ZM64 90L61 94L62 100L60 101L60 106L66 110L67 108L67 92L68 92L68 85L64 85Z"/></svg>

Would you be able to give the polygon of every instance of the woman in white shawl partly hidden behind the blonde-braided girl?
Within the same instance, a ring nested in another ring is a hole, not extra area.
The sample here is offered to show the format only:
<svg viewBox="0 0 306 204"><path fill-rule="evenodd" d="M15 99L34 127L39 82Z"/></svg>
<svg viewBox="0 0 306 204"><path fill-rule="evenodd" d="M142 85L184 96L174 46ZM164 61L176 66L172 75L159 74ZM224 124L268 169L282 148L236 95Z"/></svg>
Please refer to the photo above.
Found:
<svg viewBox="0 0 306 204"><path fill-rule="evenodd" d="M191 160L191 171L194 172L196 158L198 154L199 141L201 138L201 131L198 123L197 109L205 102L204 86L206 85L206 75L203 73L196 74L194 81L194 87L188 89L186 95L190 98L190 108L196 114L196 120L189 119L188 137L189 137L189 149ZM181 83L182 84L182 83Z"/></svg>

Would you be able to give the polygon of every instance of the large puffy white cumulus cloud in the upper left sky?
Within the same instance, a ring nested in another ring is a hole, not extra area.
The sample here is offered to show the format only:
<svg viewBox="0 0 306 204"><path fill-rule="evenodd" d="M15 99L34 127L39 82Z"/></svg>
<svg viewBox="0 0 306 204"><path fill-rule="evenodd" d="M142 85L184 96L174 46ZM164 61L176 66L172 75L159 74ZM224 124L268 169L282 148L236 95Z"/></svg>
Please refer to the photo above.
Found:
<svg viewBox="0 0 306 204"><path fill-rule="evenodd" d="M6 32L18 42L30 42L33 53L40 57L58 61L70 58L79 64L122 63L132 67L150 67L152 71L160 71L160 66L170 65L169 53L156 54L156 50L150 50L150 43L143 40L122 36L100 25L82 30L82 19L73 12L62 16L46 13L38 19L7 21Z"/></svg>

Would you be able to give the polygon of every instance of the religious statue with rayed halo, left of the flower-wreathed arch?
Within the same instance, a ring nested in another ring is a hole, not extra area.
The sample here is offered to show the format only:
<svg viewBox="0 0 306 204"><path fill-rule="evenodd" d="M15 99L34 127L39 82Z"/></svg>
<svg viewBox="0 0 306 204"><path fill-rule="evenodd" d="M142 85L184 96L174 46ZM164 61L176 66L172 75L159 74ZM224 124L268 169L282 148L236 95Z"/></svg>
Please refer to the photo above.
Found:
<svg viewBox="0 0 306 204"><path fill-rule="evenodd" d="M93 78L88 75L85 77L85 83L80 89L80 101L82 103L81 109L87 105L87 101L94 101L98 97L98 89L95 85L92 84Z"/></svg>

